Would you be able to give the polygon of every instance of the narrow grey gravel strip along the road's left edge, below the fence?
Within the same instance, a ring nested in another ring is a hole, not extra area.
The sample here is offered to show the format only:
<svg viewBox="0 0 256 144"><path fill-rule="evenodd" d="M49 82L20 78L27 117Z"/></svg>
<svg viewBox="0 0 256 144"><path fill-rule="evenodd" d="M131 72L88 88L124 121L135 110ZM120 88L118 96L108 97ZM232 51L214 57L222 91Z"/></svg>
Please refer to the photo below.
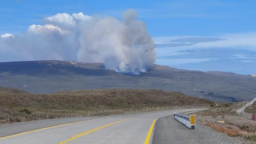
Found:
<svg viewBox="0 0 256 144"><path fill-rule="evenodd" d="M164 110L157 111L147 111L147 112L139 112L139 113L129 113L124 115L110 115L110 116L90 116L90 117L70 117L70 118L58 118L58 119L47 119L47 120L37 120L37 121L28 121L28 122L19 122L13 124L4 124L0 125L0 137L17 134L20 132L27 132L36 129L41 129L49 126L59 125L59 124L67 124L72 122L91 120L97 118L107 118L107 117L116 117L116 116L133 116L138 114L147 114L154 112L162 112Z"/></svg>

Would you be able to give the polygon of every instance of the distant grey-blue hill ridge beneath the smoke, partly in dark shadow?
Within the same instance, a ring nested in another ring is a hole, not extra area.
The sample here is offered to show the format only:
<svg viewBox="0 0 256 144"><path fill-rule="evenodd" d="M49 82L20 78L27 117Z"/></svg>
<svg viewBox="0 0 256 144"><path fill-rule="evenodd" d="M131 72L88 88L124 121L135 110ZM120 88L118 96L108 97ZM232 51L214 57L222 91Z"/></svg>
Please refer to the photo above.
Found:
<svg viewBox="0 0 256 144"><path fill-rule="evenodd" d="M135 76L104 69L101 63L19 61L0 63L0 86L31 93L81 89L158 89L214 101L252 100L256 77L154 65Z"/></svg>

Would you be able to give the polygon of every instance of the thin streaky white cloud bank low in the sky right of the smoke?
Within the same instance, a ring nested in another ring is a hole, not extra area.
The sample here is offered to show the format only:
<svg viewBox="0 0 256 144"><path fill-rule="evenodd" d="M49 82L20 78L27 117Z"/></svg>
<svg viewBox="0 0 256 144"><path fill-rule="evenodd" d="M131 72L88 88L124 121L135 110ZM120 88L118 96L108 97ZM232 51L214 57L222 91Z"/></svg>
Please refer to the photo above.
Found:
<svg viewBox="0 0 256 144"><path fill-rule="evenodd" d="M200 42L198 39L199 37L201 37ZM207 69L204 68L205 62L208 61L210 63L211 61L211 63L215 65L227 64L225 67L222 67L222 71L227 71L228 68L232 69L231 67L233 65L229 66L228 63L234 64L236 62L237 65L239 65L241 62L242 64L246 62L246 66L248 67L253 68L255 66L253 65L253 62L256 59L256 32L244 34L225 34L215 36L215 38L206 38L205 41L202 36L168 36L154 37L153 39L157 44L167 46L156 48L156 64L168 65L176 68L193 69L193 67L196 65L191 65L190 67L190 63L197 63L197 65L201 66L200 68L205 70ZM177 41L177 39L179 41ZM180 46L177 44L174 46L171 44L166 44L181 42L181 40L183 45ZM188 43L186 40L189 40L190 45L185 45ZM193 42L193 40L195 40L195 42ZM219 58L219 60L212 58ZM225 62L220 64L220 61ZM185 66L185 64L187 65ZM181 67L180 65L184 65L185 67ZM199 68L196 67L196 69ZM249 69L244 69L243 73L248 73L248 71L251 70ZM240 72L241 71L238 73Z"/></svg>

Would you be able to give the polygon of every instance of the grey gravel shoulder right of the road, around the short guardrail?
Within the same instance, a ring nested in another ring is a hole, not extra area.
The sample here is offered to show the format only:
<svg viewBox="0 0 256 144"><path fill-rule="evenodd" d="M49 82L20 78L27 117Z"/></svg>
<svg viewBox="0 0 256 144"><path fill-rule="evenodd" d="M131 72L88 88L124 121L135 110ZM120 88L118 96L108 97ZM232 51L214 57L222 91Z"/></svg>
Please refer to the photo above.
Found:
<svg viewBox="0 0 256 144"><path fill-rule="evenodd" d="M156 121L153 144L246 144L240 137L229 137L212 128L196 123L195 130L165 116Z"/></svg>

